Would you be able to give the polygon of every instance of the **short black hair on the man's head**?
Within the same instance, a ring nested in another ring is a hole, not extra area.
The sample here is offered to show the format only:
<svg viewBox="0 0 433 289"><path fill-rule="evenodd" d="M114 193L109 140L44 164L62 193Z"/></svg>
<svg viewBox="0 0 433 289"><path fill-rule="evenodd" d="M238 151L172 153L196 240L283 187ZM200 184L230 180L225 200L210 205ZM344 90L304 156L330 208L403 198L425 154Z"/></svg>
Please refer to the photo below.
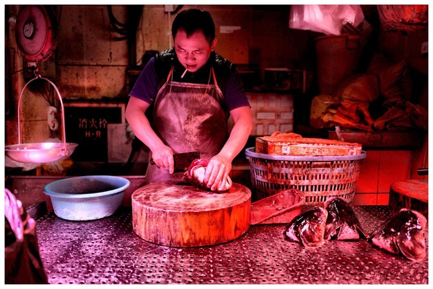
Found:
<svg viewBox="0 0 433 289"><path fill-rule="evenodd" d="M172 24L173 39L179 29L185 30L187 37L193 35L197 30L201 30L210 45L215 39L214 19L212 19L208 11L196 8L183 10L174 18Z"/></svg>

